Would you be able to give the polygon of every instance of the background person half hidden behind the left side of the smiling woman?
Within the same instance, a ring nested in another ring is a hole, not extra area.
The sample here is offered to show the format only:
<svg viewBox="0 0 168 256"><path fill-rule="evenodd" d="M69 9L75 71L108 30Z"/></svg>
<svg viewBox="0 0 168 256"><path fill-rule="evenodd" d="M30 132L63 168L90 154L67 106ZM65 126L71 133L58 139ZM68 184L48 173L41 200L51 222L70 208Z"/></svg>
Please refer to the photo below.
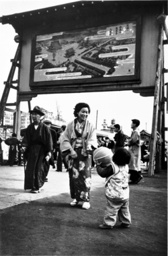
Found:
<svg viewBox="0 0 168 256"><path fill-rule="evenodd" d="M62 157L62 155L60 153L60 142L62 140L62 136L63 136L63 133L64 133L66 127L67 127L66 125L62 125L60 127L60 136L57 141L59 150L58 150L58 158L57 158L57 164L56 164L56 166L57 166L56 172L62 172L62 163L64 164L65 169L67 169L67 172L68 172L68 168L69 168L69 164L68 164L68 160L67 160L68 156Z"/></svg>

